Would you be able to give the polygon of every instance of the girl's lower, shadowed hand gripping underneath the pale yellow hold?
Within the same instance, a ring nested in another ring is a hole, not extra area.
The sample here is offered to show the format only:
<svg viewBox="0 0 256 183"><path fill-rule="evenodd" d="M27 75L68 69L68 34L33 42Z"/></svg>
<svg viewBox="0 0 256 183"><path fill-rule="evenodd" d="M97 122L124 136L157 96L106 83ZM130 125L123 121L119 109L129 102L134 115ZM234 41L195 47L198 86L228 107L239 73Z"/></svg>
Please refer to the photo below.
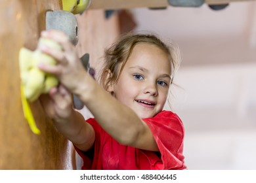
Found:
<svg viewBox="0 0 256 183"><path fill-rule="evenodd" d="M68 122L72 115L72 95L59 85L51 88L49 94L40 96L41 105L47 116L55 122Z"/></svg>

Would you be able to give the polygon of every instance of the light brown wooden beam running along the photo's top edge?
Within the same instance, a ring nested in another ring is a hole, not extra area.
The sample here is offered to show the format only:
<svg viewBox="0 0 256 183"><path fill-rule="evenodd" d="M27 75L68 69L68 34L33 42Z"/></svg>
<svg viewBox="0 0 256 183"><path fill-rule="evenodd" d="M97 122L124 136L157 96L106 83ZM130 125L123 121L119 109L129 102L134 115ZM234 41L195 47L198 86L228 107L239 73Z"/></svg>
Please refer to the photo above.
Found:
<svg viewBox="0 0 256 183"><path fill-rule="evenodd" d="M232 3L238 1L255 1L255 0L205 0L205 3L209 5L218 5L225 3ZM89 9L106 9L114 10L121 8L140 8L140 7L150 7L150 8L161 8L168 7L167 0L92 0Z"/></svg>

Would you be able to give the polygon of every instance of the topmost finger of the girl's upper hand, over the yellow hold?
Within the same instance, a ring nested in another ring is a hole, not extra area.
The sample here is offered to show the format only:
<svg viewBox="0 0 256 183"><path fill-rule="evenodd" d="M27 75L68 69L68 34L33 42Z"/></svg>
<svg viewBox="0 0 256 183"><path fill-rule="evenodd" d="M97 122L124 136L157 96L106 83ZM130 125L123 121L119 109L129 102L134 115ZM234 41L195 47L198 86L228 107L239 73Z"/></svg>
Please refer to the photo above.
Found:
<svg viewBox="0 0 256 183"><path fill-rule="evenodd" d="M58 42L62 46L62 48L67 52L74 52L75 50L75 47L70 41L68 35L66 35L66 33L62 31L57 31L54 29L51 29L49 31L42 31L41 36L53 39L54 41Z"/></svg>

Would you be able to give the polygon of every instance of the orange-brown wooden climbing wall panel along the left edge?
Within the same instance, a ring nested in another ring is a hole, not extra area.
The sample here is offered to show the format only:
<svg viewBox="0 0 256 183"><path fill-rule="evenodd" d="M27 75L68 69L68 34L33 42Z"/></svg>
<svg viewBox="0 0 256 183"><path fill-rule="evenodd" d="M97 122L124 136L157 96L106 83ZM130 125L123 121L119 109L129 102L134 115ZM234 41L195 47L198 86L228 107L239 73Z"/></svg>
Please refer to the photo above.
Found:
<svg viewBox="0 0 256 183"><path fill-rule="evenodd" d="M1 1L0 7L0 169L72 169L71 146L51 125L39 101L31 107L41 135L32 133L22 113L18 52L34 50L45 11L59 1ZM70 149L70 150L69 150Z"/></svg>

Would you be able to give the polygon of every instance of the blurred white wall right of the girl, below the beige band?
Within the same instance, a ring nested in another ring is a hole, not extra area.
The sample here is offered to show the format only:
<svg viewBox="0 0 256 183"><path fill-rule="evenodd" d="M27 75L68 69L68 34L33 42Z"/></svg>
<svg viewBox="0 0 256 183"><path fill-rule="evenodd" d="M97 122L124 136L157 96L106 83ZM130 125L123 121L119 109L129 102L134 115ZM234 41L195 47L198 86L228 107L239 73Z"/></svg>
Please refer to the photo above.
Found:
<svg viewBox="0 0 256 183"><path fill-rule="evenodd" d="M180 69L175 83L188 169L256 169L256 64Z"/></svg>

